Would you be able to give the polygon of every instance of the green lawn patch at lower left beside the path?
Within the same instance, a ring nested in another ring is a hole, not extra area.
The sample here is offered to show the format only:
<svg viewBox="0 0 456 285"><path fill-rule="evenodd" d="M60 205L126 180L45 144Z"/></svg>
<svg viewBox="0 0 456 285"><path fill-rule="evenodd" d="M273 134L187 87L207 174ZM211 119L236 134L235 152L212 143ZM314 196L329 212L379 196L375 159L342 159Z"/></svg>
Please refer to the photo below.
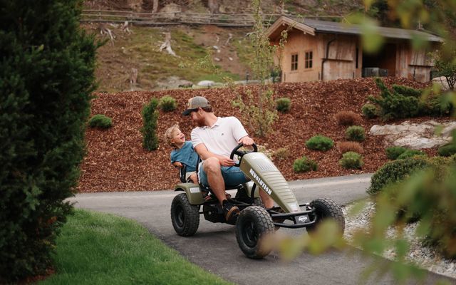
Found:
<svg viewBox="0 0 456 285"><path fill-rule="evenodd" d="M76 209L57 239L56 274L38 284L230 284L129 219Z"/></svg>

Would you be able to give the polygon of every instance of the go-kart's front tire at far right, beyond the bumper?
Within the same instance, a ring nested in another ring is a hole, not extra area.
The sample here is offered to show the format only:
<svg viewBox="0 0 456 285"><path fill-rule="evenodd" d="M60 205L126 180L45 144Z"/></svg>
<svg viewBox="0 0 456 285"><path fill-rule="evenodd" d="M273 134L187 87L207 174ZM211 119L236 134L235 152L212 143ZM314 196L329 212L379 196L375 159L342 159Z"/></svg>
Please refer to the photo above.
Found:
<svg viewBox="0 0 456 285"><path fill-rule="evenodd" d="M328 198L314 199L310 204L310 207L315 208L316 222L311 226L307 227L307 232L310 234L314 232L318 224L323 222L325 219L334 219L341 229L341 235L345 230L345 218L341 207Z"/></svg>

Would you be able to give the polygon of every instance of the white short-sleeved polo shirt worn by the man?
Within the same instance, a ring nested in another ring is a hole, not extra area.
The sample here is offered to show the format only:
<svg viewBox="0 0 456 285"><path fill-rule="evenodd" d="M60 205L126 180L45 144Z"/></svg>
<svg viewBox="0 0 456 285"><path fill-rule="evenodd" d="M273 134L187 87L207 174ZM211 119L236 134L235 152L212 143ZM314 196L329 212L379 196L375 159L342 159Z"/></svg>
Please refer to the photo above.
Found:
<svg viewBox="0 0 456 285"><path fill-rule="evenodd" d="M246 135L249 134L236 117L218 117L212 127L197 127L191 134L193 147L204 143L209 152L227 157Z"/></svg>

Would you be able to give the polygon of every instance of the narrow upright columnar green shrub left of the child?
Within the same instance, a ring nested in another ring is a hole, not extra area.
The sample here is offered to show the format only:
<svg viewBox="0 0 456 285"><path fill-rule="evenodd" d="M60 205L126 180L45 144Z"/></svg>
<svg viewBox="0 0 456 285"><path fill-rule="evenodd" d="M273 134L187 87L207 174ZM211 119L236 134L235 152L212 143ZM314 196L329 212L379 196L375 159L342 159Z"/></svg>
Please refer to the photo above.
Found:
<svg viewBox="0 0 456 285"><path fill-rule="evenodd" d="M158 100L156 98L152 98L152 100L150 100L150 102L144 105L142 108L142 147L144 147L146 150L157 150L158 148L158 105Z"/></svg>

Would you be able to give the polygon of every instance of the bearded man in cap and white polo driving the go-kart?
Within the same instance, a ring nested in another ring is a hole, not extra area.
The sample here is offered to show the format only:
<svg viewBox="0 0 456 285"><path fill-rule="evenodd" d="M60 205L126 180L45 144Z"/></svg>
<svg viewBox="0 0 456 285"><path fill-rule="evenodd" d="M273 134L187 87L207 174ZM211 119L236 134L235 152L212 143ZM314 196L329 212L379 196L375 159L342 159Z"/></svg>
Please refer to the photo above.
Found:
<svg viewBox="0 0 456 285"><path fill-rule="evenodd" d="M206 98L196 96L188 101L187 110L182 115L190 115L197 127L192 130L192 143L202 159L199 167L199 182L209 186L224 209L225 219L231 220L239 214L239 208L225 196L225 185L239 185L249 181L244 173L235 167L229 158L234 147L240 142L249 147L254 140L249 137L242 123L235 117L220 118L212 113ZM259 192L264 207L271 208L274 201L264 191Z"/></svg>

